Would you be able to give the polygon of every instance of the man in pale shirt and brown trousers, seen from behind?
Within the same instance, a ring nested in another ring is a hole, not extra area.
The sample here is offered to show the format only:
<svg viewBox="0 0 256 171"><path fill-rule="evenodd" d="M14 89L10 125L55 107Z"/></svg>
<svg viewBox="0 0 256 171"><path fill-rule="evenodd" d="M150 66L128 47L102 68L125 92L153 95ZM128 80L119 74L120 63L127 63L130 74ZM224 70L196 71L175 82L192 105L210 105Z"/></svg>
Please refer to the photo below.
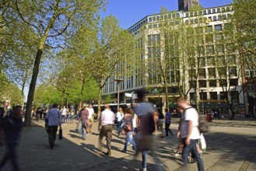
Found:
<svg viewBox="0 0 256 171"><path fill-rule="evenodd" d="M111 155L111 138L112 138L112 127L114 124L114 113L111 111L109 105L104 106L104 110L100 113L99 131L100 138L99 144L100 148L102 146L103 137L107 139L107 152L105 155Z"/></svg>

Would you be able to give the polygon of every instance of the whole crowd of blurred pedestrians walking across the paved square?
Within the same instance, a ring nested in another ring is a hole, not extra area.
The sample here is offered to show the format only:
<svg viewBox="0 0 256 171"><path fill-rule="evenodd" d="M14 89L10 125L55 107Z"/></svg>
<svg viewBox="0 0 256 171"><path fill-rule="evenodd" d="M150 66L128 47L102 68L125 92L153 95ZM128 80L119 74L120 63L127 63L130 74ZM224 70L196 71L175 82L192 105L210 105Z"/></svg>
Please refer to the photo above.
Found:
<svg viewBox="0 0 256 171"><path fill-rule="evenodd" d="M104 106L104 110L100 113L98 131L99 131L99 149L102 151L103 139L107 141L107 152L105 155L111 155L111 139L114 129L117 130L119 138L124 137L124 148L121 152L126 153L129 146L132 146L135 156L139 153L142 155L142 170L147 170L147 158L150 154L156 162L157 170L164 170L160 160L156 155L156 134L154 132L160 131L160 137L174 137L173 131L170 130L171 117L169 110L164 112L156 110L152 103L144 101L144 92L138 90L138 103L135 106L126 109L119 108L115 114L111 111L109 105ZM199 129L199 116L197 110L187 103L187 99L177 99L177 111L181 116L181 121L177 131L177 138L180 141L177 147L177 154L181 155L184 167L188 166L189 156L191 154L191 162L196 162L198 170L204 170L202 162L202 145L199 145L200 140L203 139L202 132ZM45 114L44 114L45 113ZM0 117L2 118L0 112ZM68 109L66 106L58 110L57 104L54 104L51 110L42 110L37 108L33 117L36 120L45 120L45 126L48 134L49 147L54 149L54 142L58 129L66 123L73 123L76 120L78 133L81 134L83 141L86 141L87 134L91 133L93 127L94 110L92 105L82 104L82 109L75 112L75 110ZM11 120L0 123L0 138L3 137L2 131L5 131L5 143L7 151L0 162L0 168L5 166L8 159L12 159L14 170L19 170L16 162L16 145L19 140L19 134L22 126L21 106L16 106L13 109L10 117ZM6 134L7 133L7 134ZM1 142L1 141L0 141ZM1 169L0 169L1 170Z"/></svg>

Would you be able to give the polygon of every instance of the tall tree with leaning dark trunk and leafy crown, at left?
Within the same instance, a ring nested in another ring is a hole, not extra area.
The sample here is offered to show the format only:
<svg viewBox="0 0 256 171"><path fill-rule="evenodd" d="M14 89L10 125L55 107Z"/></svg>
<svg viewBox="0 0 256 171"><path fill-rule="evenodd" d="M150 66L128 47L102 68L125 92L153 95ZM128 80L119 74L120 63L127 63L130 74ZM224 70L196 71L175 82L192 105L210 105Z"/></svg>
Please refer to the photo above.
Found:
<svg viewBox="0 0 256 171"><path fill-rule="evenodd" d="M37 54L33 65L33 74L26 103L25 124L30 125L33 94L36 88L40 61L45 47L60 48L65 46L65 38L72 37L77 26L91 26L103 0L77 1L9 1L9 15L24 26L30 27L37 34ZM9 16L10 17L10 16Z"/></svg>

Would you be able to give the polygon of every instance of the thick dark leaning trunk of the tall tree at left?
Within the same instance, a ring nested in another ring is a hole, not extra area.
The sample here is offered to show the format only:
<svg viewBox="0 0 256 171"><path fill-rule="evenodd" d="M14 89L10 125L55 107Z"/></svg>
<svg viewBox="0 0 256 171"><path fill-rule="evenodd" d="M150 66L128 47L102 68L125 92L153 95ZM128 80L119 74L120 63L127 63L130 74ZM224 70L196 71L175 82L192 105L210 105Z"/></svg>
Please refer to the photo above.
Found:
<svg viewBox="0 0 256 171"><path fill-rule="evenodd" d="M40 60L42 58L44 46L37 49L37 56L33 65L33 74L30 82L30 89L26 101L25 125L31 126L31 110L33 106L33 94L37 85L37 75L39 72Z"/></svg>

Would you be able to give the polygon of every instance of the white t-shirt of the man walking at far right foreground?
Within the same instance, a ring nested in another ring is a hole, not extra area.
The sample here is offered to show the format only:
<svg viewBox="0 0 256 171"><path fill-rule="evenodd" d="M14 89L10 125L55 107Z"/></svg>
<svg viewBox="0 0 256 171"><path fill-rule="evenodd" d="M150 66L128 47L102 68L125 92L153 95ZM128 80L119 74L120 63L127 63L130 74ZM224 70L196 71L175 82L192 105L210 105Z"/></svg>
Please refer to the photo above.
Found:
<svg viewBox="0 0 256 171"><path fill-rule="evenodd" d="M195 110L195 108L185 110L185 120L192 121L192 132L190 139L200 139L200 132L198 130L198 112Z"/></svg>

